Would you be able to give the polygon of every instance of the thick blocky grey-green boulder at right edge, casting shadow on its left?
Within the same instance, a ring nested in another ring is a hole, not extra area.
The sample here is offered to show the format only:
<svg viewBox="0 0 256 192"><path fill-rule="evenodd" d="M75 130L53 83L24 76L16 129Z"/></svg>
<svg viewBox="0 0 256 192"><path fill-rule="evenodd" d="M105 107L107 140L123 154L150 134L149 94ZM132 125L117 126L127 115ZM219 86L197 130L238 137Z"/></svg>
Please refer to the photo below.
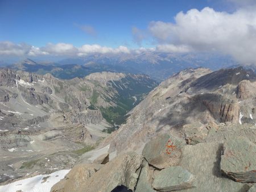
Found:
<svg viewBox="0 0 256 192"><path fill-rule="evenodd" d="M256 145L246 137L234 137L224 143L221 171L238 182L256 182Z"/></svg>

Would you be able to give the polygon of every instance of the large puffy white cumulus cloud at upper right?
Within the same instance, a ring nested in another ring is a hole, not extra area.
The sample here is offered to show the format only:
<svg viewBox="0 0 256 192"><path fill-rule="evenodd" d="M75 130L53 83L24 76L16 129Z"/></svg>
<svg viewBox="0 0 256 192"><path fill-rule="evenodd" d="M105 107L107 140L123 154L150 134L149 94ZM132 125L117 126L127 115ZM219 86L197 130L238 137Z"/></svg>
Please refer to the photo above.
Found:
<svg viewBox="0 0 256 192"><path fill-rule="evenodd" d="M175 23L151 22L148 30L161 51L218 51L256 63L256 11L192 9L179 12Z"/></svg>

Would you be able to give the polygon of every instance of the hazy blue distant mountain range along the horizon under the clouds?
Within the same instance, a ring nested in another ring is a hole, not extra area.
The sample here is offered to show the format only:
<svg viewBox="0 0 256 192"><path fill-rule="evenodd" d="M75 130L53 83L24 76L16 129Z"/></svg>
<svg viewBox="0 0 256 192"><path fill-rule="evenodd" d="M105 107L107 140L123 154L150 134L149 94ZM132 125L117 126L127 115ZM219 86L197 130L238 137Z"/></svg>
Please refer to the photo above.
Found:
<svg viewBox="0 0 256 192"><path fill-rule="evenodd" d="M228 56L208 53L98 54L73 57L57 62L35 62L26 59L8 67L39 74L51 73L62 79L85 77L96 72L147 74L160 82L187 68L206 67L212 70L238 65Z"/></svg>

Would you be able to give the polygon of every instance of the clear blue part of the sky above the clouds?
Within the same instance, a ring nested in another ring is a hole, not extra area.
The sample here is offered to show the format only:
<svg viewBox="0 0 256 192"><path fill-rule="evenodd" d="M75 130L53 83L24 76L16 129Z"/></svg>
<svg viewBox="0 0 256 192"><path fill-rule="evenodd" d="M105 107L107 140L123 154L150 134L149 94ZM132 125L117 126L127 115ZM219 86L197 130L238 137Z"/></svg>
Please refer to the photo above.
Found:
<svg viewBox="0 0 256 192"><path fill-rule="evenodd" d="M221 1L36 1L0 0L0 41L42 47L47 43L125 45L135 48L132 27L151 21L173 22L180 12L196 8L223 9ZM94 34L81 30L90 26ZM150 47L151 43L145 43Z"/></svg>

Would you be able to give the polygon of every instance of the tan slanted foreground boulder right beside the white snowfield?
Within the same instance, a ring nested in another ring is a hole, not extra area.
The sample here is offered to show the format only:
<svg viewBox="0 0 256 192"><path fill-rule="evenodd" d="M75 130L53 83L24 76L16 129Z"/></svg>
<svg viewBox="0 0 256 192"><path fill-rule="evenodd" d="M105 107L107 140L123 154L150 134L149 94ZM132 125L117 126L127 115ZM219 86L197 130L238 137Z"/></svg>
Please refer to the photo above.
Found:
<svg viewBox="0 0 256 192"><path fill-rule="evenodd" d="M63 180L52 186L51 192L77 191L83 183L92 177L102 165L99 164L78 164L65 176Z"/></svg>

